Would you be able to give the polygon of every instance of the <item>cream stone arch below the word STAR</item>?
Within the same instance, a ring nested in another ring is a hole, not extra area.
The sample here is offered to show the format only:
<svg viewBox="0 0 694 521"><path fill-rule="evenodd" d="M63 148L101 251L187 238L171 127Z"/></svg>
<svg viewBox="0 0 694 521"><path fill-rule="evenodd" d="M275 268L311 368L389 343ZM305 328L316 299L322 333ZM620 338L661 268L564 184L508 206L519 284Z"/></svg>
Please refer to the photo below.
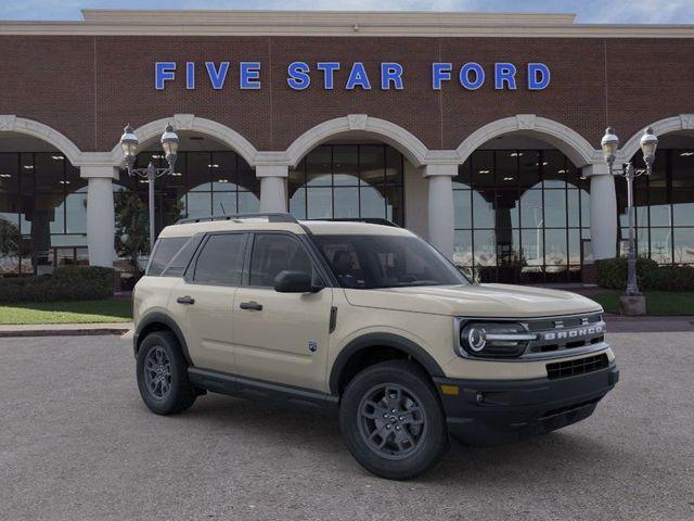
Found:
<svg viewBox="0 0 694 521"><path fill-rule="evenodd" d="M316 125L296 138L285 151L290 165L296 166L316 147L346 132L376 137L400 151L416 167L426 162L428 149L412 132L385 119L365 114L350 114Z"/></svg>

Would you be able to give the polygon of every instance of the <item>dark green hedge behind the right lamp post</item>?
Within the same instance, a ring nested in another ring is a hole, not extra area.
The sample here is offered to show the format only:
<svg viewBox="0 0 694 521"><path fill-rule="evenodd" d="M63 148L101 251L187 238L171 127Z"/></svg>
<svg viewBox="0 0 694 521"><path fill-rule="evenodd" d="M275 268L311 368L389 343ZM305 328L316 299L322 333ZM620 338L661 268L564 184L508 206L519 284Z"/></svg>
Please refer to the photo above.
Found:
<svg viewBox="0 0 694 521"><path fill-rule="evenodd" d="M597 283L611 290L627 287L627 259L607 258L596 260ZM641 290L694 291L694 267L658 266L655 260L637 259L637 281Z"/></svg>

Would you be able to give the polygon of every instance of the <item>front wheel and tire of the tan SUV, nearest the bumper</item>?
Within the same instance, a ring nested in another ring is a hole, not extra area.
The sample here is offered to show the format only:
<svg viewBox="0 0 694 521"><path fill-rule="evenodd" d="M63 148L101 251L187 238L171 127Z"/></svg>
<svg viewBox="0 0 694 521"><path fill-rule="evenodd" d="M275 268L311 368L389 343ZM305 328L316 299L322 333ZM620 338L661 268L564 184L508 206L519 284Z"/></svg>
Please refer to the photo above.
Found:
<svg viewBox="0 0 694 521"><path fill-rule="evenodd" d="M355 459L389 480L427 471L449 447L436 390L428 374L407 360L375 364L357 374L342 396L339 425Z"/></svg>

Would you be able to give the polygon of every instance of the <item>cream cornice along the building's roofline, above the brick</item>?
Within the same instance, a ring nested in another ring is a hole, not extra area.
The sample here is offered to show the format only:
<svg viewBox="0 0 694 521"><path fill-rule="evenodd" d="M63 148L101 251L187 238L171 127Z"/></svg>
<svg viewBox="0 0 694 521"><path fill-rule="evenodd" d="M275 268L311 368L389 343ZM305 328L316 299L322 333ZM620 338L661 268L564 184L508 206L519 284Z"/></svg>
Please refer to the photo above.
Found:
<svg viewBox="0 0 694 521"><path fill-rule="evenodd" d="M415 11L82 10L83 21L0 21L0 35L692 38L694 25L576 24L575 14Z"/></svg>

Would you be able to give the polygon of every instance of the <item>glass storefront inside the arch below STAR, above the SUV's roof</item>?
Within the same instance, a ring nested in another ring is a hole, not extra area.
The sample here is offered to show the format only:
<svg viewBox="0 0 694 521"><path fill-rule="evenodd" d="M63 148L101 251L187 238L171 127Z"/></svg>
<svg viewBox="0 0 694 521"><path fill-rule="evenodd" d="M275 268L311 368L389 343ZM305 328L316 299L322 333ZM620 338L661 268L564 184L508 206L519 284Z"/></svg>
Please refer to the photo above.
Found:
<svg viewBox="0 0 694 521"><path fill-rule="evenodd" d="M324 144L290 170L299 219L382 218L404 224L403 157L386 144Z"/></svg>

